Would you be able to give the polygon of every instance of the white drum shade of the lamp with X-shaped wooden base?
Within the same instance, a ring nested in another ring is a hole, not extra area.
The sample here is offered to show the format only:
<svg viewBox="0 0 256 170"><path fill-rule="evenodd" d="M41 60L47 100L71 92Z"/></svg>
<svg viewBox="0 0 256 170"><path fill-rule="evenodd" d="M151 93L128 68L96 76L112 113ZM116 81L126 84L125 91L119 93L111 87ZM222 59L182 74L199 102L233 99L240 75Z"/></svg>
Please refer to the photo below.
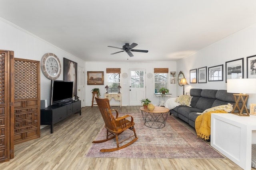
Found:
<svg viewBox="0 0 256 170"><path fill-rule="evenodd" d="M227 92L238 94L254 94L256 93L256 78L228 79Z"/></svg>

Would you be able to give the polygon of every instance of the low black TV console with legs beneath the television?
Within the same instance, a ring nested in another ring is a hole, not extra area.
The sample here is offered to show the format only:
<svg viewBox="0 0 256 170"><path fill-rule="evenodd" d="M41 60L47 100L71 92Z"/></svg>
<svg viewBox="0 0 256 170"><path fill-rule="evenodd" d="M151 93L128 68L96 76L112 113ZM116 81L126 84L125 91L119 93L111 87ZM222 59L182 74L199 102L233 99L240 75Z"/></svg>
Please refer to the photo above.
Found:
<svg viewBox="0 0 256 170"><path fill-rule="evenodd" d="M65 105L52 105L40 110L40 125L51 125L51 133L53 133L53 125L66 119L74 113L80 112L81 115L81 100L72 101Z"/></svg>

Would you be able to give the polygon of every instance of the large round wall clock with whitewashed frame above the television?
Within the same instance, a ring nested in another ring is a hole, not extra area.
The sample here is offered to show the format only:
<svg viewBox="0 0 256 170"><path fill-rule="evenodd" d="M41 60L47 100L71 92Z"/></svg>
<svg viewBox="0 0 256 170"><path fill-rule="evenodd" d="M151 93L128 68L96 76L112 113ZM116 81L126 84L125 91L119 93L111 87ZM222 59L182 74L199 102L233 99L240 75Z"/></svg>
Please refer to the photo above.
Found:
<svg viewBox="0 0 256 170"><path fill-rule="evenodd" d="M41 69L50 80L56 80L61 73L61 65L58 57L53 53L46 53L41 59Z"/></svg>

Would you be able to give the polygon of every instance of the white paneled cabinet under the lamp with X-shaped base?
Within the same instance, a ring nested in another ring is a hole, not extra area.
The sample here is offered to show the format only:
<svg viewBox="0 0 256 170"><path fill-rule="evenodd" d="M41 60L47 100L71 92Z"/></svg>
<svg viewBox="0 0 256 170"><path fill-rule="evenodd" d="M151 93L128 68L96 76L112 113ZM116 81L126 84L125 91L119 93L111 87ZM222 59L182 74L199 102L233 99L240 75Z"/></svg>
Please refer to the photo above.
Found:
<svg viewBox="0 0 256 170"><path fill-rule="evenodd" d="M256 116L211 114L211 146L245 170L251 170Z"/></svg>

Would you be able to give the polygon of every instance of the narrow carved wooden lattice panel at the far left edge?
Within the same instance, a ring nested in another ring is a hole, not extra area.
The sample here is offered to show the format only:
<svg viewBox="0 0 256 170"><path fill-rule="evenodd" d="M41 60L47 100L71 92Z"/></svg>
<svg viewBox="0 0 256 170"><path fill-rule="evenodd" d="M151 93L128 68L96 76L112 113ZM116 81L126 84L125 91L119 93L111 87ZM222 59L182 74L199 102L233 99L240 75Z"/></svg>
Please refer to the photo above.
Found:
<svg viewBox="0 0 256 170"><path fill-rule="evenodd" d="M0 162L14 157L14 52L0 50Z"/></svg>

